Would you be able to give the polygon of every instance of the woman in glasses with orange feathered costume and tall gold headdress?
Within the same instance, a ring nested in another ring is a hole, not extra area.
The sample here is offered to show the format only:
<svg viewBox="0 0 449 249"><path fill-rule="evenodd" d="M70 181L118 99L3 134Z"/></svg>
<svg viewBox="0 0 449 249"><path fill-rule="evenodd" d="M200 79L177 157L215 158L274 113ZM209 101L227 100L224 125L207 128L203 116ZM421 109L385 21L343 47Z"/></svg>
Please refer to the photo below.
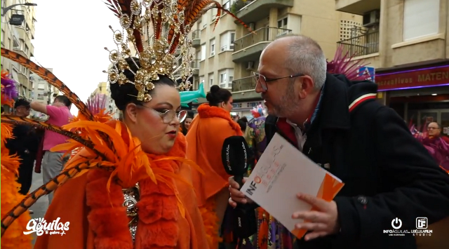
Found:
<svg viewBox="0 0 449 249"><path fill-rule="evenodd" d="M93 115L53 73L1 48L2 57L46 79L79 109L78 119L62 128L1 117L2 124L28 124L65 135L67 143L53 150L76 152L58 177L2 216L1 236L8 228L13 231L17 217L37 199L59 188L45 219L31 222L39 235L36 249L208 249L191 176L203 170L186 159L187 143L178 132L186 112L180 109L175 82L182 81L180 90L192 87L186 80L194 58L187 34L210 7L222 7L204 1L107 2L123 29L110 27L116 49L106 48L112 67L105 72L123 122ZM154 35L143 44L142 34L150 27ZM138 58L131 57L130 44ZM182 65L175 66L179 60Z"/></svg>

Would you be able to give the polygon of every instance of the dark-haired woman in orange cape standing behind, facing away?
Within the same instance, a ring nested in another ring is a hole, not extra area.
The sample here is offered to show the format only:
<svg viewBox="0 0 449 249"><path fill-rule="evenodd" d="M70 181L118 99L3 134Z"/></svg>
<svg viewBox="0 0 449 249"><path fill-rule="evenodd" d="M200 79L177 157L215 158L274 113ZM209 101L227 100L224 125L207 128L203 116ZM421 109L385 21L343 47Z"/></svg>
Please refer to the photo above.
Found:
<svg viewBox="0 0 449 249"><path fill-rule="evenodd" d="M228 178L221 161L223 142L227 137L242 135L238 123L231 119L232 94L212 86L207 94L208 104L200 105L187 133L187 158L196 162L205 174L192 173L196 197L205 222L210 249L221 241L222 224L229 190Z"/></svg>

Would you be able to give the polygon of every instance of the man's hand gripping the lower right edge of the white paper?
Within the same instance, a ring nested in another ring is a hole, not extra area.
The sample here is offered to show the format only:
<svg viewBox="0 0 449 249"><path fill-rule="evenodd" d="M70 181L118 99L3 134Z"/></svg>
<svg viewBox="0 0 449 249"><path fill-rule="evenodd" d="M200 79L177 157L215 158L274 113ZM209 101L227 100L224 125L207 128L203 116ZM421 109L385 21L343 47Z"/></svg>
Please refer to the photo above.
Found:
<svg viewBox="0 0 449 249"><path fill-rule="evenodd" d="M314 210L293 213L293 219L302 219L304 223L297 223L295 228L311 231L304 239L309 241L314 238L337 234L340 231L338 224L337 203L324 201L309 194L297 194L297 198L309 203Z"/></svg>

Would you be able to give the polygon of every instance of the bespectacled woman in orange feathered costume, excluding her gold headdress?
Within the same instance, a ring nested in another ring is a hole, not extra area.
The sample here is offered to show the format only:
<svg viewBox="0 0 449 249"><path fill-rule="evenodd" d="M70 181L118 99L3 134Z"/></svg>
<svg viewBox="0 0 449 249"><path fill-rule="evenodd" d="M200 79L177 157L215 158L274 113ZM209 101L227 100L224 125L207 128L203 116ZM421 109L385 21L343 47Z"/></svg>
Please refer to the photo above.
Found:
<svg viewBox="0 0 449 249"><path fill-rule="evenodd" d="M117 71L135 82L131 71L139 70L140 60L128 58L124 62L129 69ZM50 229L48 234L39 234L34 248L208 249L191 168L186 164L185 137L177 132L187 112L180 111L174 81L161 74L158 78L152 81L152 90L145 90L145 95L151 96L146 101L137 100L135 96L140 93L132 83L111 84L112 97L124 114L123 123L86 121L91 113L76 102L83 118L59 130L72 140L58 147L83 149L61 175L11 212L20 215L35 202L33 196L39 198L68 177L75 177L55 192L45 222L41 222L43 227L53 221L66 224L65 234L51 235L51 231L62 229ZM12 116L4 116L2 121L32 122ZM67 131L73 128L81 133ZM11 213L5 223L2 220L2 227L12 223L8 220L13 217Z"/></svg>

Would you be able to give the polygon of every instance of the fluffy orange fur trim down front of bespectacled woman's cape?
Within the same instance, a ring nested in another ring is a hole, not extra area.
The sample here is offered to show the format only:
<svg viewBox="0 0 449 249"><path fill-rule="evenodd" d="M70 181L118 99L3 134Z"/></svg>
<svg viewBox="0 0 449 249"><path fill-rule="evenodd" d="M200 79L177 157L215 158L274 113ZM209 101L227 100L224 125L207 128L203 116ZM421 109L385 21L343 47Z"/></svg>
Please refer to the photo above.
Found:
<svg viewBox="0 0 449 249"><path fill-rule="evenodd" d="M173 149L166 155L147 154L152 170L164 170L175 174L180 162L167 159L169 156L185 157L185 137L178 134ZM155 184L150 177L140 180L140 201L138 201L138 230L135 245L128 229L126 208L123 207L122 187L116 180L107 190L111 173L106 170L89 170L86 187L87 204L91 208L88 221L95 234L95 248L132 249L175 248L178 241L177 220L183 214L178 204L177 189L173 178L163 177Z"/></svg>

